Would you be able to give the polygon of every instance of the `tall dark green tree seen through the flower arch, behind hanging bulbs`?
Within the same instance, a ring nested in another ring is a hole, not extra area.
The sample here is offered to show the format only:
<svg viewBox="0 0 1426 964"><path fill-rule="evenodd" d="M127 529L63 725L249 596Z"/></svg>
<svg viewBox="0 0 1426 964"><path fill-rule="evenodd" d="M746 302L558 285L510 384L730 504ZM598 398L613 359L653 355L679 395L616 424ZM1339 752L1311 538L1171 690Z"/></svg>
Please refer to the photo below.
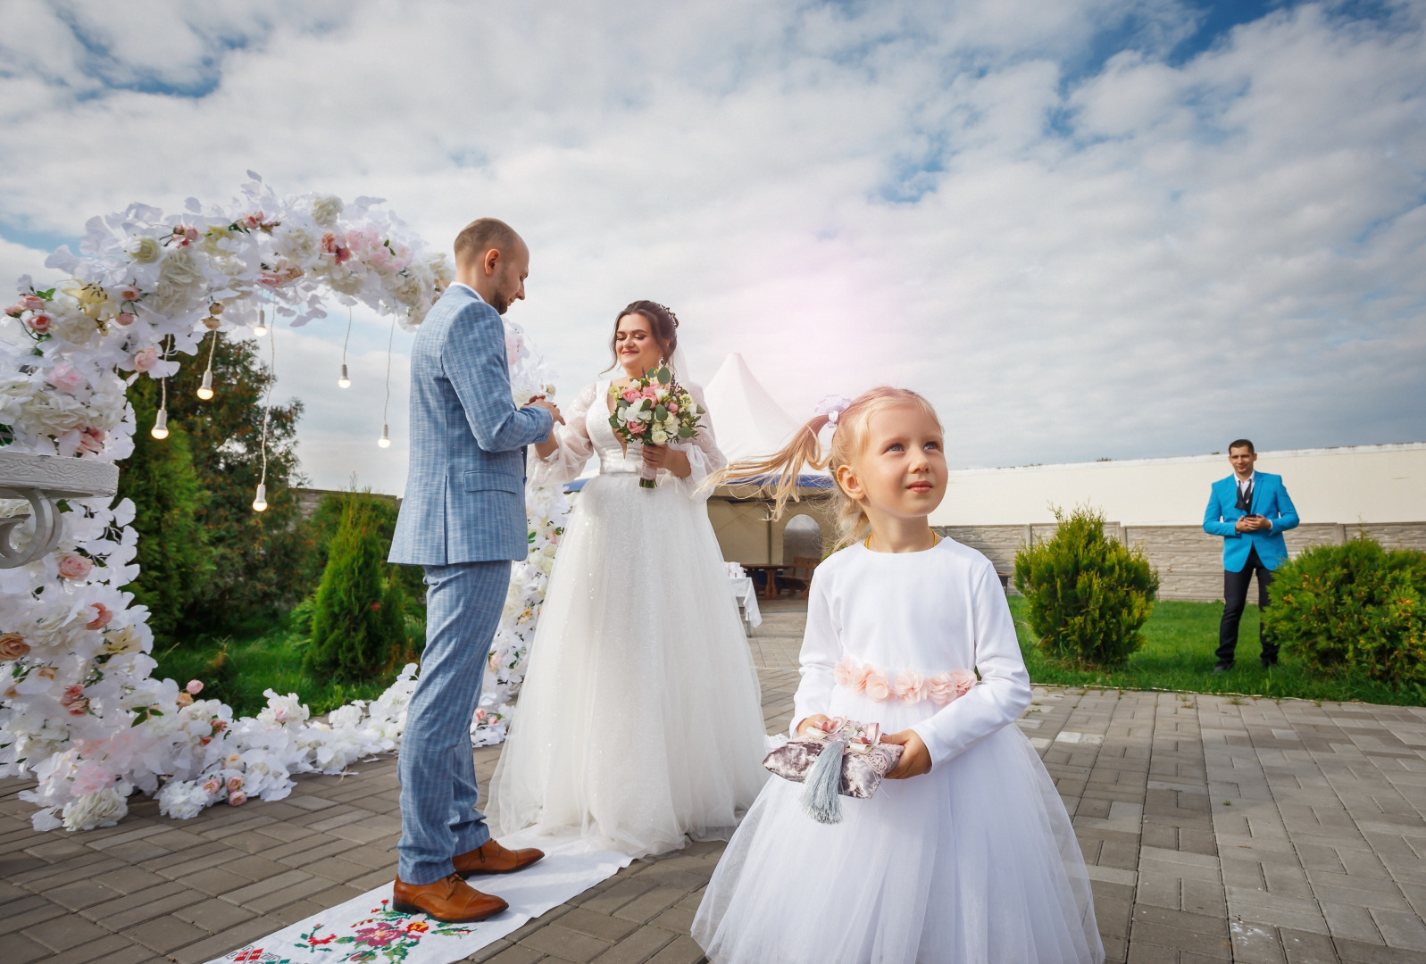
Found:
<svg viewBox="0 0 1426 964"><path fill-rule="evenodd" d="M212 335L208 335L211 339ZM197 519L212 550L212 572L188 603L181 632L225 632L252 617L287 609L311 592L294 578L302 543L292 486L304 483L297 462L299 401L275 405L268 422L267 512L252 511L262 472L264 399L272 374L260 359L261 341L218 335L212 354L214 398L197 396L211 341L195 358L184 358L168 379L168 424L188 438L201 498ZM135 409L153 412L160 386L140 378L128 391ZM147 435L153 415L140 416ZM173 439L173 435L170 436ZM140 453L135 452L135 458ZM135 501L137 502L137 501ZM140 529L140 535L144 530ZM140 540L143 543L143 540Z"/></svg>

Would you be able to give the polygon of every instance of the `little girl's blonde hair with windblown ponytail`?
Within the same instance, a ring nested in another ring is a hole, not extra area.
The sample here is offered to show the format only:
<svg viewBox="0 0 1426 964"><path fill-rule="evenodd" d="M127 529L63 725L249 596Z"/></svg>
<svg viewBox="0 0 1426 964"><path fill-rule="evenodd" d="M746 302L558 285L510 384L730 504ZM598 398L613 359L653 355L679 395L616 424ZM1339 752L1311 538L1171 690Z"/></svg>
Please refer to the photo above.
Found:
<svg viewBox="0 0 1426 964"><path fill-rule="evenodd" d="M826 468L831 472L833 482L836 483L831 498L837 501L837 543L833 546L833 552L850 546L871 532L871 522L867 519L867 513L863 512L861 503L850 498L843 491L841 483L837 482L837 469L843 465L850 465L856 469L866 453L867 425L871 421L871 415L904 405L923 409L935 421L937 426L941 425L941 419L935 415L931 404L915 392L906 388L873 388L858 395L856 401L837 415L836 428L831 432L831 441L827 443L826 452L823 452L821 446L821 429L833 419L829 415L814 415L811 421L793 434L791 442L780 452L761 459L734 462L719 472L716 481L712 481L712 483L737 485L743 481L744 483L770 485L776 479L771 516L776 519L781 516L783 508L789 501L800 501L797 476L801 475L803 468Z"/></svg>

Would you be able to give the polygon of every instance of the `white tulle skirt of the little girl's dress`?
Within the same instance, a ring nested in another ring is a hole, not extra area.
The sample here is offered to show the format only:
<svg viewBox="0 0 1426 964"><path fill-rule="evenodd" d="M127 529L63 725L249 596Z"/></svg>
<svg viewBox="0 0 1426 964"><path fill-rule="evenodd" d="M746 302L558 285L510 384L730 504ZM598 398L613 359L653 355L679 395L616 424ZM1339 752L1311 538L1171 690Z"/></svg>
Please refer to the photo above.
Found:
<svg viewBox="0 0 1426 964"><path fill-rule="evenodd" d="M840 687L834 714L906 729L928 710ZM714 964L1099 964L1084 857L1030 742L1007 726L819 824L773 777L693 924Z"/></svg>

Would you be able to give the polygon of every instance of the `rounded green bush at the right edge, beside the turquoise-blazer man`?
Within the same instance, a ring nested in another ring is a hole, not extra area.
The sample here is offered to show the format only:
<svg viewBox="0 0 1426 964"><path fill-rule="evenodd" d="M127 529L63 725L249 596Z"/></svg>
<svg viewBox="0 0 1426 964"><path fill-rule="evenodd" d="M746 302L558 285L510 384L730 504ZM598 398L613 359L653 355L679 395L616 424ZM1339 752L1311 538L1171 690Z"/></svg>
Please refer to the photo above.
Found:
<svg viewBox="0 0 1426 964"><path fill-rule="evenodd" d="M1306 549L1273 573L1263 622L1323 673L1426 683L1426 552L1387 552L1366 535Z"/></svg>

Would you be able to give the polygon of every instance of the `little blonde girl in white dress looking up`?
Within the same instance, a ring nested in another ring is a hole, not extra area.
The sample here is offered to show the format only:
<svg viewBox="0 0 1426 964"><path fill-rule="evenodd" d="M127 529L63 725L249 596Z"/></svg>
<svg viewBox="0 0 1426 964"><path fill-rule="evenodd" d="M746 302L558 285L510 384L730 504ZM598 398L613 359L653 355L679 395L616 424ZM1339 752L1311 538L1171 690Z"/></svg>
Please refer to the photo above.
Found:
<svg viewBox="0 0 1426 964"><path fill-rule="evenodd" d="M834 426L847 548L813 578L791 729L874 722L903 756L870 799L840 799L836 824L770 779L693 937L714 964L1099 964L1070 817L1014 726L1031 692L1000 579L927 523L945 495L940 421L893 388L836 408L729 473L776 473L780 512Z"/></svg>

